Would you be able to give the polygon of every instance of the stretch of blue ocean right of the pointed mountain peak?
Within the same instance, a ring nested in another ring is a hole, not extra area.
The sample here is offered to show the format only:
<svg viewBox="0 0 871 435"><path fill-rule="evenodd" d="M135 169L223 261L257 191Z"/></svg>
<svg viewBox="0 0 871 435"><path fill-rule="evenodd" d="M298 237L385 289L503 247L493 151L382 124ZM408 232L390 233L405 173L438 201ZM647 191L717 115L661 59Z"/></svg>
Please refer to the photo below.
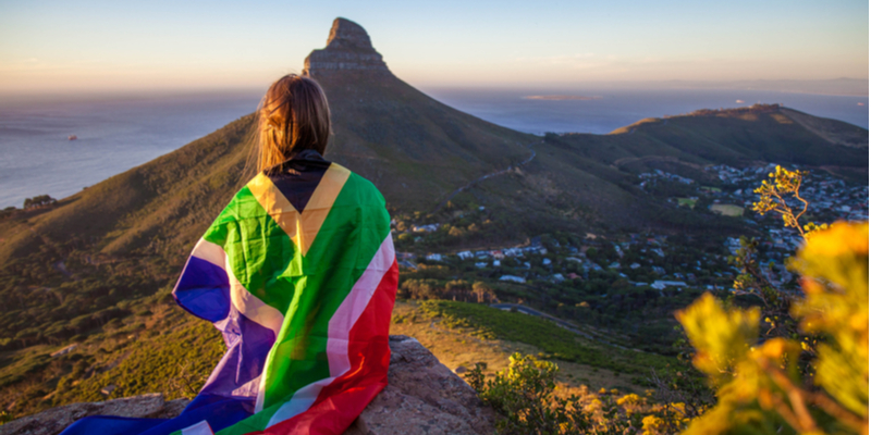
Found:
<svg viewBox="0 0 871 435"><path fill-rule="evenodd" d="M868 128L868 97L839 97L732 89L474 90L426 88L437 100L520 132L606 134L646 117L728 109L756 102L782 103L815 116ZM586 100L537 100L530 96L574 96ZM741 101L741 102L738 102ZM861 105L859 105L861 103Z"/></svg>

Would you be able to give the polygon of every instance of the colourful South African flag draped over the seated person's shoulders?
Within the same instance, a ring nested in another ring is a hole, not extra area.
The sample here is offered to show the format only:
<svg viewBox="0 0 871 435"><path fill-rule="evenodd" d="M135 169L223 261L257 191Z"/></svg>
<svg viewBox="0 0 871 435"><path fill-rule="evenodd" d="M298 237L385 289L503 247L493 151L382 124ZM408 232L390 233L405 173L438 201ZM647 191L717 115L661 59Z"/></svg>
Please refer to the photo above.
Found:
<svg viewBox="0 0 871 435"><path fill-rule="evenodd" d="M235 195L173 290L226 344L199 395L175 419L64 435L340 434L387 385L397 278L378 189L300 151Z"/></svg>

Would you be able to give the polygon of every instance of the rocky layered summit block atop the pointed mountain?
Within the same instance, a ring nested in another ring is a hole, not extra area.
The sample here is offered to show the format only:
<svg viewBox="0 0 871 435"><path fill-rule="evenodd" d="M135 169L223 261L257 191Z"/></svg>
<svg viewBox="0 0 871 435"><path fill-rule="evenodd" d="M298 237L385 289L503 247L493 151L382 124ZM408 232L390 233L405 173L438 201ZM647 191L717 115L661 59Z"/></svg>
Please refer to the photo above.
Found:
<svg viewBox="0 0 871 435"><path fill-rule="evenodd" d="M391 75L381 54L375 51L366 29L341 17L333 21L327 47L312 50L306 58L303 74L317 77L340 71Z"/></svg>

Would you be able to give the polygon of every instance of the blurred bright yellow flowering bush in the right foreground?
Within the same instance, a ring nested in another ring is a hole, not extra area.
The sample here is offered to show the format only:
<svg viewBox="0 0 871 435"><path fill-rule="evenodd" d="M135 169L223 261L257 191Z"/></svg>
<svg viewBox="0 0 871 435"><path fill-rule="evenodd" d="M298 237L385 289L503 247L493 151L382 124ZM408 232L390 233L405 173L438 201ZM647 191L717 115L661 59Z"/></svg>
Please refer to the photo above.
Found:
<svg viewBox="0 0 871 435"><path fill-rule="evenodd" d="M708 294L678 312L694 364L717 391L687 434L868 433L868 222L835 223L789 262L802 275L790 313L806 338L760 341L759 309ZM809 349L815 358L805 371L799 357Z"/></svg>

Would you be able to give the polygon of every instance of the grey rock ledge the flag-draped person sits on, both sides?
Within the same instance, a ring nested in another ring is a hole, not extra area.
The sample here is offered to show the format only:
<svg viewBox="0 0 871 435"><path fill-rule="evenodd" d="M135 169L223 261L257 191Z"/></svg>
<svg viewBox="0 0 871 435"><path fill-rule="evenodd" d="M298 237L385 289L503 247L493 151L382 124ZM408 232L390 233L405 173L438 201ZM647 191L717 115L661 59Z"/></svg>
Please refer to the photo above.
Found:
<svg viewBox="0 0 871 435"><path fill-rule="evenodd" d="M492 434L493 410L416 339L390 337L388 387L363 411L346 435ZM160 394L73 403L0 426L0 435L54 435L87 415L169 419L187 400Z"/></svg>

